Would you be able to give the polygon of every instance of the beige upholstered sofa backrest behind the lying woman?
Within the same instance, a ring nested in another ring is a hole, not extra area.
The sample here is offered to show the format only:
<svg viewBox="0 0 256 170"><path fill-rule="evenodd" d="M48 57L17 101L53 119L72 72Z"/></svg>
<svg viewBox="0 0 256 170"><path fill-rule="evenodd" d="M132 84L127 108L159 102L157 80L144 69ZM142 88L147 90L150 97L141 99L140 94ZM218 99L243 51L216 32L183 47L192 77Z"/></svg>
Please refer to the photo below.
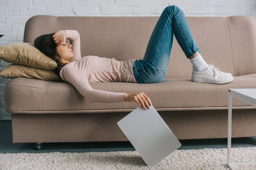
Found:
<svg viewBox="0 0 256 170"><path fill-rule="evenodd" d="M80 34L81 57L139 60L144 57L158 18L35 15L26 22L23 42L34 43L41 34L73 29ZM234 76L256 73L256 20L253 17L186 19L208 64ZM192 64L174 36L167 78L189 78L191 74Z"/></svg>

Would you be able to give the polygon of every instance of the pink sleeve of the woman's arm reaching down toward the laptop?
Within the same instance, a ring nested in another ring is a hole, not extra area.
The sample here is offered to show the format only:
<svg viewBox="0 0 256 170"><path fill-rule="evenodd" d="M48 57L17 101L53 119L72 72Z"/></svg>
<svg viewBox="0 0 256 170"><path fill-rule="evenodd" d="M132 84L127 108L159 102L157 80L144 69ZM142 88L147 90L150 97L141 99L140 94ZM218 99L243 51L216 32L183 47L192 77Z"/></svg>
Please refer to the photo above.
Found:
<svg viewBox="0 0 256 170"><path fill-rule="evenodd" d="M116 93L93 89L87 79L87 75L83 71L71 68L62 68L61 75L64 81L72 84L79 93L90 102L100 103L117 103L125 102L124 95L126 93Z"/></svg>

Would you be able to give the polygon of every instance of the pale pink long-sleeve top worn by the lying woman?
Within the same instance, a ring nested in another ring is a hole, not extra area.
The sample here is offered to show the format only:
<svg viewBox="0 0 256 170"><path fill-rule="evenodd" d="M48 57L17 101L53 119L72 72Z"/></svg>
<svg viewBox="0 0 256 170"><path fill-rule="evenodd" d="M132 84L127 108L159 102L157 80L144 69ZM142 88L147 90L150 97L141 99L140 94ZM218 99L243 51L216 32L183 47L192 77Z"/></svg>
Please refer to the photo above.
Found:
<svg viewBox="0 0 256 170"><path fill-rule="evenodd" d="M72 45L74 57L62 67L60 77L72 84L90 102L125 102L126 93L93 89L89 82L133 82L133 63L136 59L117 61L115 58L85 56L81 58L80 34L76 30L64 30Z"/></svg>

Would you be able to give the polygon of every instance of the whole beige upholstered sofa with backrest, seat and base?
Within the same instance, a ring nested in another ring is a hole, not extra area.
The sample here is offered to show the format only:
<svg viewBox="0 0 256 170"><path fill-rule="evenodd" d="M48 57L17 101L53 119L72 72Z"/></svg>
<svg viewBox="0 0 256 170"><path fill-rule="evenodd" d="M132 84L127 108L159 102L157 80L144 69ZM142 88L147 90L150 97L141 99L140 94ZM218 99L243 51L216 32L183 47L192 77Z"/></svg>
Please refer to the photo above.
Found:
<svg viewBox="0 0 256 170"><path fill-rule="evenodd" d="M143 59L159 17L31 17L23 42L41 34L77 30L81 55ZM174 37L166 80L154 84L90 82L93 89L144 92L177 139L227 138L229 88L256 88L256 21L249 16L186 17L201 55L233 82L191 82L192 64ZM67 42L69 42L67 40ZM116 124L135 102L88 102L67 82L17 77L5 86L13 143L128 141ZM256 136L256 108L233 99L232 137Z"/></svg>

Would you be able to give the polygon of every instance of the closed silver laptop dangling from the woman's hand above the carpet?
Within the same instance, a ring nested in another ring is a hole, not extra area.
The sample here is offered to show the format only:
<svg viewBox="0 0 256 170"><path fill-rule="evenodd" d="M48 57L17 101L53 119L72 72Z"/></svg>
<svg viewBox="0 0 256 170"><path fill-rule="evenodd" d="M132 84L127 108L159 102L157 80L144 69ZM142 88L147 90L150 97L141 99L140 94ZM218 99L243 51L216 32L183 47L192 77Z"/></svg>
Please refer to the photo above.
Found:
<svg viewBox="0 0 256 170"><path fill-rule="evenodd" d="M177 150L181 143L153 106L140 107L129 113L117 125L147 165L154 166Z"/></svg>

